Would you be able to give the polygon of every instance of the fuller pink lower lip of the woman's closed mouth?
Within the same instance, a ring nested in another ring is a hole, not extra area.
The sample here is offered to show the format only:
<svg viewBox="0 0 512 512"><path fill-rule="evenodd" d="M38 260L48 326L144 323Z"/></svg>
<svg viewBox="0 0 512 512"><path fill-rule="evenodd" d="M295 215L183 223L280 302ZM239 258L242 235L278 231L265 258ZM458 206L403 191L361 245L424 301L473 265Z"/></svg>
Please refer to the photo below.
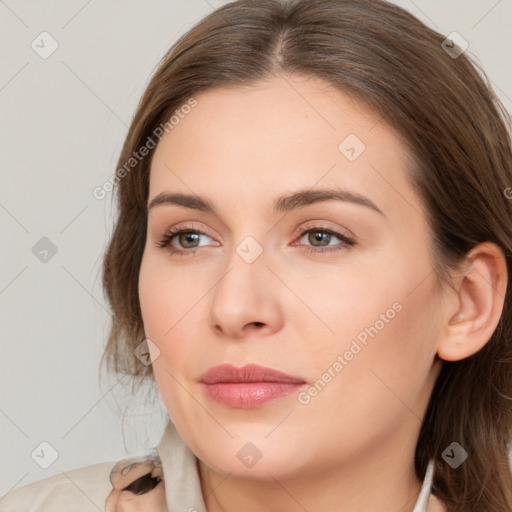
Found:
<svg viewBox="0 0 512 512"><path fill-rule="evenodd" d="M238 409L252 409L282 398L305 385L290 382L219 382L203 384L206 394L216 402Z"/></svg>

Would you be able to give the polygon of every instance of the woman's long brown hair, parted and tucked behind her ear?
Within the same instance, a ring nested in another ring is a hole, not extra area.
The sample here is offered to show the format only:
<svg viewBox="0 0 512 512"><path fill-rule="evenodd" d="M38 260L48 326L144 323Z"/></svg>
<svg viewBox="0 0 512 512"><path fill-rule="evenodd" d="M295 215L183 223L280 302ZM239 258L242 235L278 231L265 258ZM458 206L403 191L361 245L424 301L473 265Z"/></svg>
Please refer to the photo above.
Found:
<svg viewBox="0 0 512 512"><path fill-rule="evenodd" d="M119 214L102 269L113 321L102 364L134 380L153 378L151 365L134 357L144 339L138 275L153 152L126 163L155 140L157 127L171 127L165 123L180 106L215 86L293 73L366 102L413 155L410 182L428 215L439 282L484 241L503 250L511 276L510 118L479 64L467 52L450 54L445 37L383 0L238 0L182 36L154 73L118 162ZM417 476L434 459L433 491L451 512L512 510L511 293L508 286L485 347L443 361L419 435ZM457 469L441 456L454 441L469 454Z"/></svg>

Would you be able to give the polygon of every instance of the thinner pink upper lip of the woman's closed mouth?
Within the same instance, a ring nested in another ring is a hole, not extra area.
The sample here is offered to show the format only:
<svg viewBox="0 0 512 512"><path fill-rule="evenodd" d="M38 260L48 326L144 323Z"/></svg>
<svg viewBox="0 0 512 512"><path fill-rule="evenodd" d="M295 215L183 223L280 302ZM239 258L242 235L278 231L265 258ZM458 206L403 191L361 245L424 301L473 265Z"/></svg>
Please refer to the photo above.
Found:
<svg viewBox="0 0 512 512"><path fill-rule="evenodd" d="M216 384L218 382L287 382L292 384L303 384L305 380L300 377L287 375L286 373L259 366L248 364L236 368L231 364L213 366L201 375L201 382L205 384Z"/></svg>

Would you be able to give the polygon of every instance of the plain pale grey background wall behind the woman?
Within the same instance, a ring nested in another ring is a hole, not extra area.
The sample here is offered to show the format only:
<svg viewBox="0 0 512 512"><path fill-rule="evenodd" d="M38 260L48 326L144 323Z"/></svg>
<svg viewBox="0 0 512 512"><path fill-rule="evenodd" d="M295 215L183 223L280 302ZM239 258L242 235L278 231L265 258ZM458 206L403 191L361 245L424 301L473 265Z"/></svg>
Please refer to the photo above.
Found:
<svg viewBox="0 0 512 512"><path fill-rule="evenodd" d="M122 382L98 382L109 321L99 272L113 209L111 194L92 191L115 171L159 59L224 3L0 0L0 495L160 438L161 401L130 403ZM396 3L445 35L459 32L512 111L512 0ZM59 45L46 59L31 47L43 31ZM57 249L47 262L32 251L43 237ZM58 453L48 469L31 457L51 460L41 442Z"/></svg>

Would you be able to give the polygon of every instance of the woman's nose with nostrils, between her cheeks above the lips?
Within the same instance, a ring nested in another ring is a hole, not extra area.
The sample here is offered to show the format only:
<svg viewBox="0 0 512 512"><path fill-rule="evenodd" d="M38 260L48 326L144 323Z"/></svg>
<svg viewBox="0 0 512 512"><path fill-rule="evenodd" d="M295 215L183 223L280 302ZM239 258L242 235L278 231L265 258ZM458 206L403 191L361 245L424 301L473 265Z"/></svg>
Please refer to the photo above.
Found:
<svg viewBox="0 0 512 512"><path fill-rule="evenodd" d="M248 263L233 251L226 268L210 296L208 321L215 334L239 340L281 329L283 290L265 252Z"/></svg>

